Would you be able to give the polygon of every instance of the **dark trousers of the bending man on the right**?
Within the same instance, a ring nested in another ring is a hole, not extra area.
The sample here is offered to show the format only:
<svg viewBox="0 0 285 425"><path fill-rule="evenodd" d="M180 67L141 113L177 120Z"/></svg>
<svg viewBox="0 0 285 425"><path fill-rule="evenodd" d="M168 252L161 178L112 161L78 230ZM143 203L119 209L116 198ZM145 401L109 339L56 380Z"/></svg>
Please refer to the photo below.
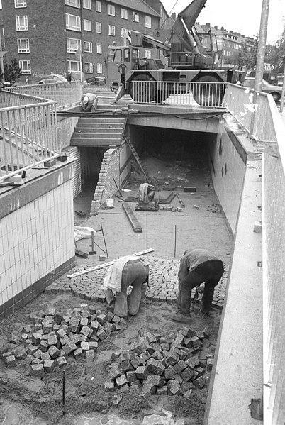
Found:
<svg viewBox="0 0 285 425"><path fill-rule="evenodd" d="M179 293L177 307L184 314L190 314L191 291L194 287L205 282L203 297L201 300L201 311L208 313L213 301L213 293L220 278L223 276L223 262L220 260L209 260L201 263L196 269L191 270L186 277L179 280Z"/></svg>

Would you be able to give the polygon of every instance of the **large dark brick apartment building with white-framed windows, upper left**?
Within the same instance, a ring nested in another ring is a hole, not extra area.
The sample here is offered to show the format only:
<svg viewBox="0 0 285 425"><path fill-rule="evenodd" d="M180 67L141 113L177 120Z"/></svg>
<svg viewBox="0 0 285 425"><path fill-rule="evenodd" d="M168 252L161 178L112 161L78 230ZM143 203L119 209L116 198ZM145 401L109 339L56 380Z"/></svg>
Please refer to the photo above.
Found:
<svg viewBox="0 0 285 425"><path fill-rule="evenodd" d="M5 0L2 7L6 61L16 57L30 82L80 72L81 64L85 79L105 75L108 45L123 45L129 30L160 27L160 13L143 0Z"/></svg>

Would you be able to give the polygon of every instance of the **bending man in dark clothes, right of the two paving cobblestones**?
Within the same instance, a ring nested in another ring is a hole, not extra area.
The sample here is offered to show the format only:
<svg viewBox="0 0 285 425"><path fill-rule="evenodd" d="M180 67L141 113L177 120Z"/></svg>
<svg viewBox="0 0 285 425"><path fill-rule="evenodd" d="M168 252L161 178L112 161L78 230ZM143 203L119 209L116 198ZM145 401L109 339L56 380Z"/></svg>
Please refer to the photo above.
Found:
<svg viewBox="0 0 285 425"><path fill-rule="evenodd" d="M213 293L223 276L223 262L207 250L186 250L180 260L178 272L179 293L177 307L179 313L172 315L174 321L189 321L191 307L191 291L205 282L201 300L201 316L206 318L211 309Z"/></svg>

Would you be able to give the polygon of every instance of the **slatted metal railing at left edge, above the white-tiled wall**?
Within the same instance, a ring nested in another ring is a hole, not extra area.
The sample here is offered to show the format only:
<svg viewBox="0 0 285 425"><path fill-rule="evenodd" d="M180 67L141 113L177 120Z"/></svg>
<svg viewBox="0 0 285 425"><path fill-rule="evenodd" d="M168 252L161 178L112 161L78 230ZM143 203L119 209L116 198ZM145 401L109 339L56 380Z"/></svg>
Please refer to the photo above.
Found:
<svg viewBox="0 0 285 425"><path fill-rule="evenodd" d="M0 107L0 180L59 156L55 101L2 91Z"/></svg>

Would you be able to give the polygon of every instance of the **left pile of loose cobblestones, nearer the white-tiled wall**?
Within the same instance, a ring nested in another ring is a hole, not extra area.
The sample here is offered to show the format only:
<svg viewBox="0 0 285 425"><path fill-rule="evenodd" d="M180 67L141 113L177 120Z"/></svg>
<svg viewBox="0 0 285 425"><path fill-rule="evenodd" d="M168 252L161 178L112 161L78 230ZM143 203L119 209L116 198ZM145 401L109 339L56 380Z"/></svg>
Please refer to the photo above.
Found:
<svg viewBox="0 0 285 425"><path fill-rule="evenodd" d="M15 367L16 360L30 365L33 375L42 377L55 367L72 360L93 360L100 343L110 340L112 332L126 324L125 319L98 311L94 306L30 314L33 326L22 326L20 333L13 333L9 346L1 348L1 358L8 367Z"/></svg>

